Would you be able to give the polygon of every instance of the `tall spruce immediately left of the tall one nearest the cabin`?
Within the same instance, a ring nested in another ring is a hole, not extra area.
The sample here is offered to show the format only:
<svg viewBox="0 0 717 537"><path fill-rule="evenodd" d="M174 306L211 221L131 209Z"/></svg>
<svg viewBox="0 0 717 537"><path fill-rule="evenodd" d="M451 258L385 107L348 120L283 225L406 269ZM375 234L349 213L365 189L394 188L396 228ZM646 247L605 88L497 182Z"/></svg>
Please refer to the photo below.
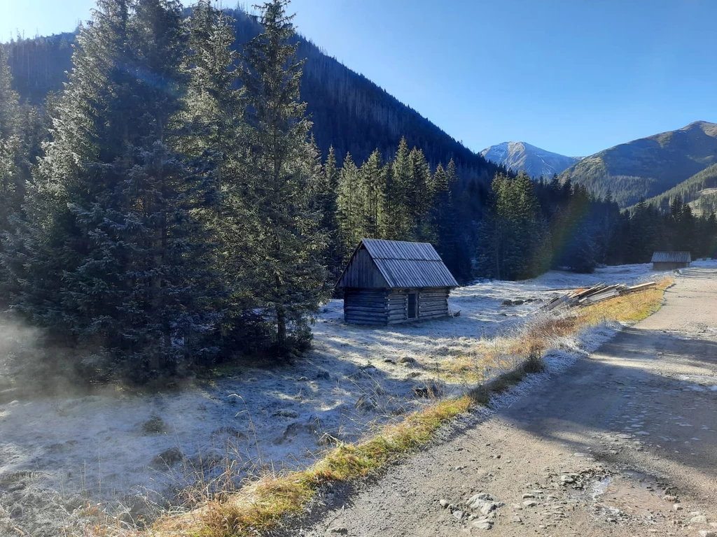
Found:
<svg viewBox="0 0 717 537"><path fill-rule="evenodd" d="M245 237L237 230L254 221L246 198L244 153L249 135L244 118L244 89L237 87L241 66L234 50L234 21L201 0L191 11L189 49L184 60L189 73L186 106L179 116L179 148L204 168L215 198L201 204L201 219L213 237L217 267L217 311L222 324L218 341L225 355L237 348L252 352L266 339L259 302L247 270Z"/></svg>

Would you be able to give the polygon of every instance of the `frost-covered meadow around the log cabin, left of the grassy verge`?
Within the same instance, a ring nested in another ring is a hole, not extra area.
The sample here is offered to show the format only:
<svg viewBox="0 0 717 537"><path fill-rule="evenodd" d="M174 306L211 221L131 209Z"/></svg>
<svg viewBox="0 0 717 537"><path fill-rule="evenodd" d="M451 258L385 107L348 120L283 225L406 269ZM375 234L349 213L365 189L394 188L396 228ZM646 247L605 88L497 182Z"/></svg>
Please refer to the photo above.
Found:
<svg viewBox="0 0 717 537"><path fill-rule="evenodd" d="M40 516L43 496L57 498L57 513L70 519L100 502L93 509L118 508L131 523L171 505L221 499L256 476L311 468L337 442L432 408L435 399L417 397L416 387L455 400L515 367L526 349L511 341L561 292L552 289L654 277L635 265L479 281L452 294L460 317L389 328L346 326L341 301L331 301L314 326L315 350L290 367L232 369L154 395L106 390L0 402L0 529L56 535ZM505 299L531 301L503 306ZM148 428L148 420L163 427Z"/></svg>

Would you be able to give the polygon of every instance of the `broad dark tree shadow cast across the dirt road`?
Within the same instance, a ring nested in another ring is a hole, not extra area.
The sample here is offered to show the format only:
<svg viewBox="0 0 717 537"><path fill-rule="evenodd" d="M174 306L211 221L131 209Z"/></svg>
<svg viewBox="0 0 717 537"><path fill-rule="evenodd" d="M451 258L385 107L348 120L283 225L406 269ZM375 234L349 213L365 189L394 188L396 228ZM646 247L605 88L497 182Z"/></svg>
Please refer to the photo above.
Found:
<svg viewBox="0 0 717 537"><path fill-rule="evenodd" d="M572 452L599 442L598 461L639 467L646 464L646 449L649 460L657 457L704 476L702 496L713 497L716 405L717 341L633 327L497 414ZM593 442L574 440L586 435ZM614 442L624 448L619 454L609 449Z"/></svg>

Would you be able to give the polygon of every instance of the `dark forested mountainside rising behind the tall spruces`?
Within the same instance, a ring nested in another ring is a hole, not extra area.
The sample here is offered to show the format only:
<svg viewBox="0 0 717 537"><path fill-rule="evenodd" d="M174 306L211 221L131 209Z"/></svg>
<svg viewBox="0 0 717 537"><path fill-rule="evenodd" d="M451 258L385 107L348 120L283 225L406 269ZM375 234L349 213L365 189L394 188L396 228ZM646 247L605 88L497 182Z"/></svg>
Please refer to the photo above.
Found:
<svg viewBox="0 0 717 537"><path fill-rule="evenodd" d="M260 32L259 24L240 10L225 10L236 19L238 47ZM189 11L188 11L189 14ZM394 155L401 137L416 145L429 163L457 163L464 183L488 183L498 167L473 153L446 132L399 102L361 74L353 72L313 43L299 36L298 55L307 58L301 81L302 98L314 122L313 135L323 155L333 145L338 159L351 153L360 164L376 147L384 158ZM9 63L14 87L22 97L39 104L48 92L57 92L72 69L70 57L75 34L24 39L11 43Z"/></svg>

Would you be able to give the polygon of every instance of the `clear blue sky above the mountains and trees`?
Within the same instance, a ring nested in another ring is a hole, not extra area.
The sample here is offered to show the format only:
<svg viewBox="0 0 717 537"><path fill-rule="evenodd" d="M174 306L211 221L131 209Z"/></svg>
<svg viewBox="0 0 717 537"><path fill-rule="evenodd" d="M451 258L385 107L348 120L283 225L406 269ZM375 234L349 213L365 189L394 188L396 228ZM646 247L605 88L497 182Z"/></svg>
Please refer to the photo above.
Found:
<svg viewBox="0 0 717 537"><path fill-rule="evenodd" d="M0 0L0 38L72 30L93 5ZM717 121L717 1L294 0L292 9L306 37L473 150L521 140L589 155Z"/></svg>

